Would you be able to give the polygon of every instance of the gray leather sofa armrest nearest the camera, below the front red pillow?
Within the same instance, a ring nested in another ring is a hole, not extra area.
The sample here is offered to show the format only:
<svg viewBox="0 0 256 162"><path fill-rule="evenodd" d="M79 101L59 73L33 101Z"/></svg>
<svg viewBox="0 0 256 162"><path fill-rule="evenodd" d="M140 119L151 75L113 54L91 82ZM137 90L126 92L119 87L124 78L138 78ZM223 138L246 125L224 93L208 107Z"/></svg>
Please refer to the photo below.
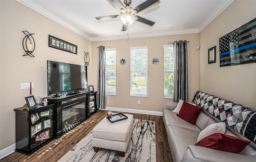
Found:
<svg viewBox="0 0 256 162"><path fill-rule="evenodd" d="M182 162L256 162L256 156L248 156L189 145Z"/></svg>

